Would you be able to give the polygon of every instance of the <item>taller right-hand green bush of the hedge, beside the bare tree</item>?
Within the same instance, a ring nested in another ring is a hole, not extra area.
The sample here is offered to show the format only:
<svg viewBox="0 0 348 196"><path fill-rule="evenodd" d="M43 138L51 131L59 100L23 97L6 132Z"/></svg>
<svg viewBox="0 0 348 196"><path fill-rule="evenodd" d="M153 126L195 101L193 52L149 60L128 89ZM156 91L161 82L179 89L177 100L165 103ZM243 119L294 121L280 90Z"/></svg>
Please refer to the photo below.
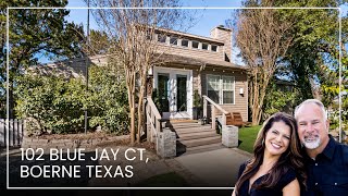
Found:
<svg viewBox="0 0 348 196"><path fill-rule="evenodd" d="M127 134L129 110L124 77L105 66L91 66L89 75L86 106L91 115L89 125Z"/></svg>

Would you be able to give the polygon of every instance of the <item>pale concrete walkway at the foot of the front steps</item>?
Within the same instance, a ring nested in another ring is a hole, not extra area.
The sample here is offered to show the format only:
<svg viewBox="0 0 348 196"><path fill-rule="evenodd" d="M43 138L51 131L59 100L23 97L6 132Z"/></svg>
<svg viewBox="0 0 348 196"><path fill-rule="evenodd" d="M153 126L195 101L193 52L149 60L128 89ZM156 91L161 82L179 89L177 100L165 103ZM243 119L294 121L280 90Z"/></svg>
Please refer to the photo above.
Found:
<svg viewBox="0 0 348 196"><path fill-rule="evenodd" d="M200 183L198 187L233 187L237 181L239 166L251 158L251 154L238 148L222 148L175 158Z"/></svg>

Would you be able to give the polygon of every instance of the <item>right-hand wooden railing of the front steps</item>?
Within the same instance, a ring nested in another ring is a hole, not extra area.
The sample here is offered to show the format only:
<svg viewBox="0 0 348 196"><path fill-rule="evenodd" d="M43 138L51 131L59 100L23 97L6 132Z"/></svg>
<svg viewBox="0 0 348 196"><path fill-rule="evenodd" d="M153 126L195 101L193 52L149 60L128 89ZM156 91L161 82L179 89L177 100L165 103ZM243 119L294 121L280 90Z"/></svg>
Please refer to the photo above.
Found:
<svg viewBox="0 0 348 196"><path fill-rule="evenodd" d="M227 112L226 110L224 110L223 108L221 108L221 106L219 106L216 102L214 102L213 100L211 100L209 97L207 96L202 96L203 98L203 117L207 118L207 112L208 112L208 102L210 102L211 106L211 126L212 128L216 127L216 110L222 112L222 122L221 125L226 125L226 115L229 114L229 112Z"/></svg>

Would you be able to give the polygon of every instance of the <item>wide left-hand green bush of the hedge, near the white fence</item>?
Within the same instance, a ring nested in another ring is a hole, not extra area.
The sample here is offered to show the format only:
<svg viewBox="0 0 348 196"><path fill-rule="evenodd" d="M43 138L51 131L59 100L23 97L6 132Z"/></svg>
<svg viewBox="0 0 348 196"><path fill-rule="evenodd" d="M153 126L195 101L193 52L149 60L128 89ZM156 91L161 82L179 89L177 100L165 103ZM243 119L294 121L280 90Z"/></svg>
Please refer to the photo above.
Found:
<svg viewBox="0 0 348 196"><path fill-rule="evenodd" d="M39 133L78 132L84 124L84 100L86 96L80 78L24 75L18 78L16 114L34 119L38 127L27 127Z"/></svg>

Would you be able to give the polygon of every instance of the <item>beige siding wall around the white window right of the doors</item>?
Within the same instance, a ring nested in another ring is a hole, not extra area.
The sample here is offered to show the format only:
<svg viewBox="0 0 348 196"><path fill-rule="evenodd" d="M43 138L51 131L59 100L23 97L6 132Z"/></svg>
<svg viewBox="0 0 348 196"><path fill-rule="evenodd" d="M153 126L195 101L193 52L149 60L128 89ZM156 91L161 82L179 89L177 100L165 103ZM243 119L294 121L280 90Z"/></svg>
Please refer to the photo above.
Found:
<svg viewBox="0 0 348 196"><path fill-rule="evenodd" d="M206 70L201 73L202 95L207 95L207 74L213 75L226 75L235 77L235 103L232 105L220 105L223 109L228 112L240 112L243 121L248 121L248 82L247 74L240 71L213 71ZM244 89L244 94L239 94L239 89ZM220 114L220 113L217 113Z"/></svg>

